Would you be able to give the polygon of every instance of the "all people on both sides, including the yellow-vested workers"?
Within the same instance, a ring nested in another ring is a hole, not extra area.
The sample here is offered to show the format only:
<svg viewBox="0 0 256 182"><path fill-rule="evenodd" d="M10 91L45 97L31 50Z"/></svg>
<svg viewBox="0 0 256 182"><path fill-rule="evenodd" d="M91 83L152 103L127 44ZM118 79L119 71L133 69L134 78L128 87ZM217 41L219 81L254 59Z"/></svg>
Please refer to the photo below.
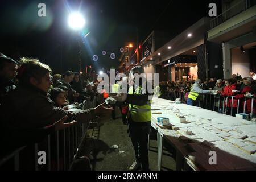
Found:
<svg viewBox="0 0 256 182"><path fill-rule="evenodd" d="M142 67L131 70L132 75L143 73ZM251 111L250 97L255 97L256 83L254 75L242 78L233 75L231 79L209 81L166 81L160 82L158 96L164 97L167 92L184 92L185 101L189 105L198 105L202 93L215 93L221 96L234 96L226 105L228 112L231 107L237 107L238 100L246 100L247 113ZM151 102L142 83L133 84L129 88L128 80L125 100L116 97L123 115L123 123L129 123L129 133L135 151L135 162L131 169L148 170L147 140L150 133ZM121 82L115 83L114 91L119 91ZM115 119L115 105L106 106L104 100L108 92L98 93L99 82L89 81L77 72L66 71L52 76L51 68L39 60L23 57L15 61L1 53L0 55L0 125L1 125L1 156L8 154L15 148L42 142L47 135L54 134L78 123L89 123L97 114L112 111ZM104 89L104 88L103 88ZM114 96L113 96L114 98ZM76 105L82 109L84 101L95 101L98 106L76 112L69 111L69 105ZM103 104L102 104L103 102ZM255 102L255 100L254 100ZM225 104L225 103L224 103ZM240 103L242 104L242 103ZM241 107L242 108L242 107ZM235 109L233 109L235 111ZM256 113L255 104L253 113ZM234 115L234 113L232 113Z"/></svg>

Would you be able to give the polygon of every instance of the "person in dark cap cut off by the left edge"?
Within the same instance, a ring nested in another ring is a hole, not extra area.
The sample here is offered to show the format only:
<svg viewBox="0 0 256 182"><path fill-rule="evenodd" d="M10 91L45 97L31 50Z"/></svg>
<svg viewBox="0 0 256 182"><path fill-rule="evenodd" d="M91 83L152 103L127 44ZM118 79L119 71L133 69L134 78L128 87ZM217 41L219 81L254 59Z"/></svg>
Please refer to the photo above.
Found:
<svg viewBox="0 0 256 182"><path fill-rule="evenodd" d="M0 97L2 98L10 89L14 89L13 79L17 75L18 63L0 53ZM1 103L0 98L0 103Z"/></svg>

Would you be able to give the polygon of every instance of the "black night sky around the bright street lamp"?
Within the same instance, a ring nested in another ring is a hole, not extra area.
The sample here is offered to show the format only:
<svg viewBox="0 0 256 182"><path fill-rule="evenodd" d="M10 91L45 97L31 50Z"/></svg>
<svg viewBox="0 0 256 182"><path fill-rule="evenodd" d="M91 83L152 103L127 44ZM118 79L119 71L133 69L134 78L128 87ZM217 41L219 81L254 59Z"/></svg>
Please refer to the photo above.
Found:
<svg viewBox="0 0 256 182"><path fill-rule="evenodd" d="M46 4L46 17L38 16L38 4ZM0 52L13 59L38 58L49 64L54 73L78 71L79 40L82 40L82 71L93 65L96 71L118 68L119 48L142 42L152 30L167 31L170 40L203 16L208 5L221 0L205 1L5 1L0 5ZM84 30L68 27L68 15L79 10L86 19ZM168 41L167 40L167 41ZM107 54L103 56L101 51ZM115 53L114 60L110 53ZM92 56L98 55L98 61ZM61 67L62 63L62 67Z"/></svg>

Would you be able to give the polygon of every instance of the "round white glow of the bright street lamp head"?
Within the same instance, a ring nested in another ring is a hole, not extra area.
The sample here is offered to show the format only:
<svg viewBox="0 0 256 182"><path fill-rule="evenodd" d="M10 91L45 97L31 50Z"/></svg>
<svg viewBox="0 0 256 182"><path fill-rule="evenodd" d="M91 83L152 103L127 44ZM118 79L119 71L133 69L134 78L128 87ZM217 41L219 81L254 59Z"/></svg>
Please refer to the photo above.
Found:
<svg viewBox="0 0 256 182"><path fill-rule="evenodd" d="M69 27L71 27L72 29L80 30L84 28L85 19L78 12L71 13L68 17L68 24L69 24Z"/></svg>

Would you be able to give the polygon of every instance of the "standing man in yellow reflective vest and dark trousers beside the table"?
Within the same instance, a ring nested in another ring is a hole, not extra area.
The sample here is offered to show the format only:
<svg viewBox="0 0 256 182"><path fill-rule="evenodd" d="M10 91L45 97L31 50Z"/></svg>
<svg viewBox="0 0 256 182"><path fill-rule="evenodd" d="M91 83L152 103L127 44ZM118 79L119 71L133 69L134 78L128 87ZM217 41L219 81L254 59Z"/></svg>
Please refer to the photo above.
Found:
<svg viewBox="0 0 256 182"><path fill-rule="evenodd" d="M134 67L131 69L131 75L144 73L142 67ZM135 79L134 79L135 80ZM143 79L142 79L143 80ZM148 137L151 127L151 96L148 94L147 87L143 86L142 80L136 85L130 86L127 95L127 104L129 104L129 112L127 119L129 121L129 134L135 151L135 161L129 168L130 171L142 169L149 170L148 162ZM145 78L146 81L146 78ZM147 82L147 84L149 84ZM147 86L147 85L146 85Z"/></svg>

